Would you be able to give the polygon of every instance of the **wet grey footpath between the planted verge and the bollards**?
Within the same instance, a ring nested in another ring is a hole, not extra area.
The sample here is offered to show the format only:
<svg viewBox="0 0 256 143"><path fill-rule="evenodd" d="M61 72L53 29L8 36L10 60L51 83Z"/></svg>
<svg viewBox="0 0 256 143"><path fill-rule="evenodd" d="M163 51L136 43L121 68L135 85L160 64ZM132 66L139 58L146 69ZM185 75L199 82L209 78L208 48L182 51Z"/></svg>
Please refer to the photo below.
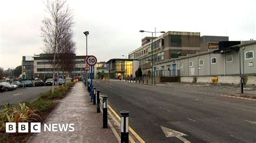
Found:
<svg viewBox="0 0 256 143"><path fill-rule="evenodd" d="M78 82L44 123L75 124L75 131L45 132L42 124L41 133L28 142L118 142L111 128L103 128L103 115L96 111L86 87Z"/></svg>

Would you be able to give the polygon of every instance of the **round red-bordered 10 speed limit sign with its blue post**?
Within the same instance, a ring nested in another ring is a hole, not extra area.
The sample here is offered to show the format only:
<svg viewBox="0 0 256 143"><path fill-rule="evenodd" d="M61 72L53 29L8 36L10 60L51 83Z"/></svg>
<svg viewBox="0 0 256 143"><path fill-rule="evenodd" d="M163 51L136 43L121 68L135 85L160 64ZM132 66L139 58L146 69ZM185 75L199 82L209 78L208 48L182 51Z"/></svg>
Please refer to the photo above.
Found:
<svg viewBox="0 0 256 143"><path fill-rule="evenodd" d="M92 99L93 99L93 69L94 69L94 65L97 63L97 59L95 56L93 55L90 55L90 56L87 56L87 59L86 59L86 62L89 66L91 66L91 92L90 92L90 95L91 95L91 102L92 102Z"/></svg>

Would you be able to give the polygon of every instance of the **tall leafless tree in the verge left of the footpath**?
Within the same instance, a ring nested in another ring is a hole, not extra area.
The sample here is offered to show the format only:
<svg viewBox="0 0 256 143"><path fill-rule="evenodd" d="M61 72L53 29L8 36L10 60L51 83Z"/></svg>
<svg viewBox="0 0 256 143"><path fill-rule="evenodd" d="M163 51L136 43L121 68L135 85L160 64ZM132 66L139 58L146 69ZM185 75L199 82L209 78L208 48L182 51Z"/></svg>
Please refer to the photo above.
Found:
<svg viewBox="0 0 256 143"><path fill-rule="evenodd" d="M52 92L53 85L55 83L55 74L59 67L59 55L62 51L62 42L64 40L65 34L72 33L73 17L71 12L66 6L66 1L56 0L48 1L46 3L46 11L49 13L49 17L45 17L42 21L41 31L42 38L44 42L43 51L46 54L51 55L52 61ZM58 78L57 78L58 80ZM58 81L57 81L58 84Z"/></svg>

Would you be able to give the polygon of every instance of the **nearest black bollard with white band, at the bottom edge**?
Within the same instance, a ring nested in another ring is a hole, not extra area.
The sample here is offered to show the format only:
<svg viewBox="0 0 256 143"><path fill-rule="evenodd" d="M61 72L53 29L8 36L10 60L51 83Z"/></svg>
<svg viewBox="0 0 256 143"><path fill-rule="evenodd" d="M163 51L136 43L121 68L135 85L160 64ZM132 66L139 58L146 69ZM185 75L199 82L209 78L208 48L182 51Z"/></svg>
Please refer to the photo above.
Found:
<svg viewBox="0 0 256 143"><path fill-rule="evenodd" d="M121 111L121 142L129 142L129 111Z"/></svg>

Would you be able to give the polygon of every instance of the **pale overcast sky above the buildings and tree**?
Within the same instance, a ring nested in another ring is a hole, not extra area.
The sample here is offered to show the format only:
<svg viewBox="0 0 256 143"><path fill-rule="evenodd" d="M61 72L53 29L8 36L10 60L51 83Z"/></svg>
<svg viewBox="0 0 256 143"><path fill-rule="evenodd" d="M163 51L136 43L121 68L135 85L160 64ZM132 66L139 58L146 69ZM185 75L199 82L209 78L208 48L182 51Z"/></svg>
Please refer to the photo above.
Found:
<svg viewBox="0 0 256 143"><path fill-rule="evenodd" d="M227 35L230 40L256 40L256 1L78 1L68 0L75 20L77 55L85 55L84 31L89 31L88 54L98 61L124 58L151 36L139 30L188 31ZM23 55L42 53L40 26L44 1L0 2L0 67L21 65ZM159 36L159 34L157 34Z"/></svg>

